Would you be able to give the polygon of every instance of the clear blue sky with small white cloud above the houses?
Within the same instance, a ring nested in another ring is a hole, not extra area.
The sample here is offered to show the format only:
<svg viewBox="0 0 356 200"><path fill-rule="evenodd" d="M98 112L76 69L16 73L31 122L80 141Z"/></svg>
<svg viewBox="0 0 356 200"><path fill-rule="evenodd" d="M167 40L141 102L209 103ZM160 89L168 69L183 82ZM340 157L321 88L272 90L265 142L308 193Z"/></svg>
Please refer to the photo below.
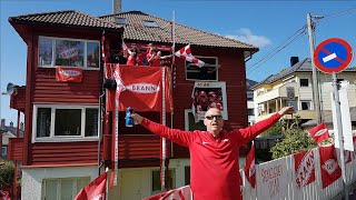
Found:
<svg viewBox="0 0 356 200"><path fill-rule="evenodd" d="M247 66L247 78L261 81L289 67L290 57L310 57L307 34L283 48L274 57L266 54L276 49L307 22L307 13L325 16L316 27L316 46L328 38L343 38L356 48L356 2L354 1L214 1L214 0L122 0L122 10L146 13L195 27L208 32L235 38L260 48ZM340 12L354 9L350 12ZM26 43L8 22L9 17L78 10L92 16L112 13L112 0L0 0L1 13L1 92L8 82L26 83ZM194 52L192 52L194 53ZM256 63L258 64L256 66ZM356 66L355 62L352 66ZM256 69L255 69L256 68ZM255 69L255 70L253 70ZM17 120L17 111L9 109L9 97L1 96L0 117ZM21 120L23 121L23 119Z"/></svg>

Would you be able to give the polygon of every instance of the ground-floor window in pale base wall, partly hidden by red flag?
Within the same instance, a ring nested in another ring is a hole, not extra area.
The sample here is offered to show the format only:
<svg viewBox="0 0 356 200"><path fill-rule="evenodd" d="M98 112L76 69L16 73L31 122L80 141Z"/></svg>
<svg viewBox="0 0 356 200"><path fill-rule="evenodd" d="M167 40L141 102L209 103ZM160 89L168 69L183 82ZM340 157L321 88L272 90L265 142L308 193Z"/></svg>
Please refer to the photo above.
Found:
<svg viewBox="0 0 356 200"><path fill-rule="evenodd" d="M86 184L88 184L89 181L89 177L43 179L42 199L75 199L79 190L81 190Z"/></svg>

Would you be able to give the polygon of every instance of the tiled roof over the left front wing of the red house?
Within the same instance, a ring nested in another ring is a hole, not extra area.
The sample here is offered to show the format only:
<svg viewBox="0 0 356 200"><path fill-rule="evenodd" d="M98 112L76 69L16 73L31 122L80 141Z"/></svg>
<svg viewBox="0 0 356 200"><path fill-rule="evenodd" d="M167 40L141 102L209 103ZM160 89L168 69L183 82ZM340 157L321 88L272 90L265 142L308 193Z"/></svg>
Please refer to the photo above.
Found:
<svg viewBox="0 0 356 200"><path fill-rule="evenodd" d="M76 28L93 28L93 29L105 29L113 31L122 31L122 27L109 21L102 20L100 18L75 11L55 11L55 12L43 12L43 13L32 13L26 16L10 17L10 22L14 23L27 23L27 24L47 24L47 26L58 26L58 27L76 27Z"/></svg>

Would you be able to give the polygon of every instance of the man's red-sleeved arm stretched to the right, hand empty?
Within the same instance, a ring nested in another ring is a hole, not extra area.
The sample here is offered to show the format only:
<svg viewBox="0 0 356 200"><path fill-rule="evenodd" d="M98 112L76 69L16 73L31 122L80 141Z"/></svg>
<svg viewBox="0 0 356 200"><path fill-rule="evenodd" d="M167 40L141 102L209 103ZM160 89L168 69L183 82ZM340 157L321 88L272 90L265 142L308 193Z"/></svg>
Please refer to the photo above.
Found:
<svg viewBox="0 0 356 200"><path fill-rule="evenodd" d="M248 128L240 129L239 132L241 134L241 140L244 143L253 140L258 134L263 133L270 127L273 127L284 114L291 113L294 111L293 107L285 107L280 109L277 113L273 114L268 119L261 120Z"/></svg>

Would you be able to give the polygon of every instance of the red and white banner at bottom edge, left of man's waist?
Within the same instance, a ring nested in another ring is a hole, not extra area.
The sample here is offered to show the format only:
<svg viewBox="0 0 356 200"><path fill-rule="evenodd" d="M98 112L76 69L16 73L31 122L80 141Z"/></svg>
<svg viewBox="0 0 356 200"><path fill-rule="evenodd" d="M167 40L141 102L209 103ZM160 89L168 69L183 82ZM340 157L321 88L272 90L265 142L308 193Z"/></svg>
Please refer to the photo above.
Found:
<svg viewBox="0 0 356 200"><path fill-rule="evenodd" d="M167 192L158 193L156 196L144 198L144 200L191 200L191 199L192 197L191 197L190 186L185 186L181 188L169 190Z"/></svg>

